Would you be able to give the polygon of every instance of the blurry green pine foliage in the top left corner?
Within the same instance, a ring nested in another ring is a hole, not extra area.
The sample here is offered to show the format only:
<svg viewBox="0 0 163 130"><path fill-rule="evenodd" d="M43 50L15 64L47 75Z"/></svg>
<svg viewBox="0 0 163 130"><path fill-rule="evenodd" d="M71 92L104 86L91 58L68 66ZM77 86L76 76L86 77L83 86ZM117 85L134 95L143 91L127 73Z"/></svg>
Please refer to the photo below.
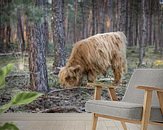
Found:
<svg viewBox="0 0 163 130"><path fill-rule="evenodd" d="M46 12L45 12L46 10ZM17 12L28 17L30 22L42 22L45 15L51 15L51 10L44 5L36 5L33 0L12 0L6 2L0 11L1 22L4 25L17 24Z"/></svg>

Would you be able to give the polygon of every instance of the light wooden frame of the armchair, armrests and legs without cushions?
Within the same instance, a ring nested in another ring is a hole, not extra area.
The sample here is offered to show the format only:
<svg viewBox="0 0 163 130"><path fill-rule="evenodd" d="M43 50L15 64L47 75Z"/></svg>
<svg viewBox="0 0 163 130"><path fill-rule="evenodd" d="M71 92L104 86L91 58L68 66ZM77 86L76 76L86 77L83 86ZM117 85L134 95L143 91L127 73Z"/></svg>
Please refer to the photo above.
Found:
<svg viewBox="0 0 163 130"><path fill-rule="evenodd" d="M95 87L94 100L101 100L102 88L107 87L109 97L111 98L111 100L112 101L118 101L118 98L117 98L116 92L115 92L115 88L116 88L115 86L107 85L107 84L103 84L103 83L88 83L87 85ZM113 116L93 113L92 130L96 130L98 117L120 121L124 130L127 130L127 126L125 123L140 124L141 130L147 130L148 124L163 126L163 123L151 122L149 120L150 119L150 113L151 113L153 91L157 92L161 112L163 114L163 89L158 88L158 87L151 87L151 86L138 86L137 89L141 89L141 90L145 91L143 113L142 113L142 119L140 121L139 120L129 120L129 119L120 118L120 117L113 117Z"/></svg>

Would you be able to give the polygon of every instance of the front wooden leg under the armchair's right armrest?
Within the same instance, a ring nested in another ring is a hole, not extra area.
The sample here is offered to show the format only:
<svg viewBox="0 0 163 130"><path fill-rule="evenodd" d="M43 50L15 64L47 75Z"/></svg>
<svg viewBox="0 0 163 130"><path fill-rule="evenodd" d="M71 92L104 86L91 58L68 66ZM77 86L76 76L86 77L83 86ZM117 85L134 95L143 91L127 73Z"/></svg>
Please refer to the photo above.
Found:
<svg viewBox="0 0 163 130"><path fill-rule="evenodd" d="M145 91L141 130L147 130L150 119L151 102L152 102L152 91L150 90Z"/></svg>

